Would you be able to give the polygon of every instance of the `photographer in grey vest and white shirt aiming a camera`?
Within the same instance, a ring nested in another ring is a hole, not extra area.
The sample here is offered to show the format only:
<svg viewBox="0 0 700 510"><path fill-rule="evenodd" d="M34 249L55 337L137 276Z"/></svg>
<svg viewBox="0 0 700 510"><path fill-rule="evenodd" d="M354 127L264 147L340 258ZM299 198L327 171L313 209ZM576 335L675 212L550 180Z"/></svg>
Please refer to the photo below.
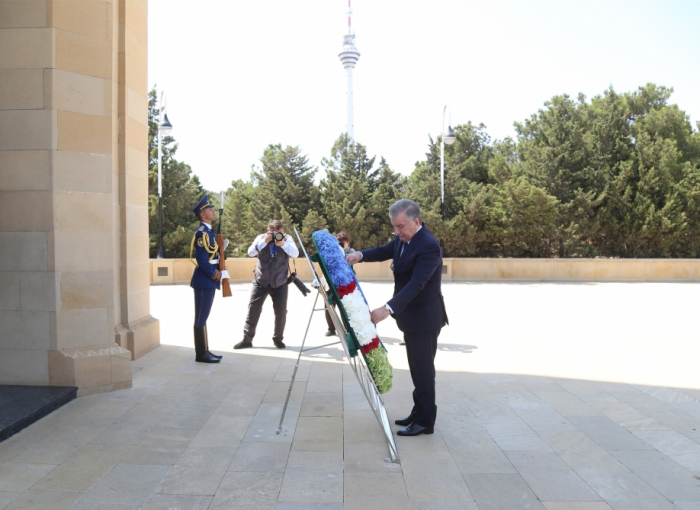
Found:
<svg viewBox="0 0 700 510"><path fill-rule="evenodd" d="M282 222L272 220L267 225L267 232L255 238L248 248L248 255L257 257L255 279L250 292L248 316L243 328L243 340L233 346L234 349L253 347L253 337L260 319L263 303L267 296L272 297L272 307L275 310L275 333L272 341L278 349L286 345L282 341L284 326L287 322L287 272L289 258L299 256L299 249L294 244L292 236L284 233Z"/></svg>

